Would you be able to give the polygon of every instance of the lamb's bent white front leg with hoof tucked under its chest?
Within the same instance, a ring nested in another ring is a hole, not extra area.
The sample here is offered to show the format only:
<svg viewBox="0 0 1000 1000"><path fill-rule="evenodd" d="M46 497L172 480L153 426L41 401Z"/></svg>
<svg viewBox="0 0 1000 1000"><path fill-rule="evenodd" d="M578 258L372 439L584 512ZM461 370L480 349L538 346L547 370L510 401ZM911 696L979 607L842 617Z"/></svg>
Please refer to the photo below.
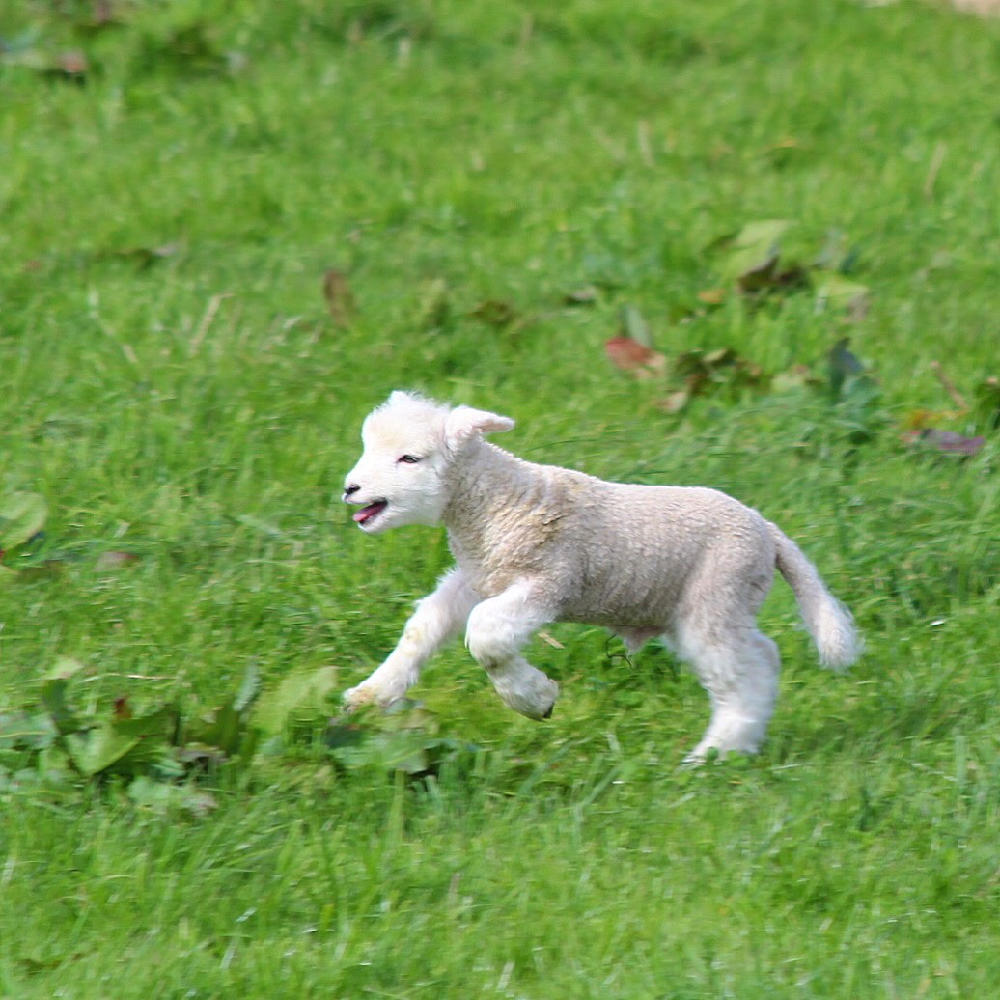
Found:
<svg viewBox="0 0 1000 1000"><path fill-rule="evenodd" d="M552 613L530 582L517 583L477 604L469 615L465 644L489 674L504 704L532 719L547 719L559 685L519 655Z"/></svg>

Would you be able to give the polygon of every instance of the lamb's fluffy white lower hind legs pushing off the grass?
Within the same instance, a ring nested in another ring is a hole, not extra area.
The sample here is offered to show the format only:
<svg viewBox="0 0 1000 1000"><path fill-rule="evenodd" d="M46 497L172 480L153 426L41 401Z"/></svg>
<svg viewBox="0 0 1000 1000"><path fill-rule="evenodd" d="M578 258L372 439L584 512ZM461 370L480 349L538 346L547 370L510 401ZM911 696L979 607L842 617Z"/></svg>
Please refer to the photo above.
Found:
<svg viewBox="0 0 1000 1000"><path fill-rule="evenodd" d="M703 761L712 749L720 755L730 750L756 753L778 695L777 646L755 626L744 626L725 635L689 632L681 637L681 650L712 705L708 729L685 761Z"/></svg>

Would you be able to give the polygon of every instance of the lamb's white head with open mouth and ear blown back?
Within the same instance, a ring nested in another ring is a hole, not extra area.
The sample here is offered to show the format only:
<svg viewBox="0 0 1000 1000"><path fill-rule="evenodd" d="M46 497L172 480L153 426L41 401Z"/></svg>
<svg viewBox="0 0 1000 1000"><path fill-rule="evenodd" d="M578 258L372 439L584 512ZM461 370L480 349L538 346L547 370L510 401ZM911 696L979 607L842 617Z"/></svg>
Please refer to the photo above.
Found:
<svg viewBox="0 0 1000 1000"><path fill-rule="evenodd" d="M364 452L344 484L344 501L361 505L358 527L377 534L404 524L440 524L451 463L471 441L513 426L509 417L485 410L394 392L365 418Z"/></svg>

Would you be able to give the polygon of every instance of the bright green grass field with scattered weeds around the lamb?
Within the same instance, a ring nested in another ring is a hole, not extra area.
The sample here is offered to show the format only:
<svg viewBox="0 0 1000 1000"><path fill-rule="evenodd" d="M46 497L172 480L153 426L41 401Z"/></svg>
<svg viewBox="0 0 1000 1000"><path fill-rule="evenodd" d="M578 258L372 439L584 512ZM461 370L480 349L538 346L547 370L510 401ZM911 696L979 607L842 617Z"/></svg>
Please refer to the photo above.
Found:
<svg viewBox="0 0 1000 1000"><path fill-rule="evenodd" d="M996 995L1000 22L0 0L0 40L0 997ZM599 629L533 643L546 724L458 644L404 728L328 729L449 565L340 503L398 387L733 493L866 655L816 669L776 585L769 740L694 770L697 682Z"/></svg>

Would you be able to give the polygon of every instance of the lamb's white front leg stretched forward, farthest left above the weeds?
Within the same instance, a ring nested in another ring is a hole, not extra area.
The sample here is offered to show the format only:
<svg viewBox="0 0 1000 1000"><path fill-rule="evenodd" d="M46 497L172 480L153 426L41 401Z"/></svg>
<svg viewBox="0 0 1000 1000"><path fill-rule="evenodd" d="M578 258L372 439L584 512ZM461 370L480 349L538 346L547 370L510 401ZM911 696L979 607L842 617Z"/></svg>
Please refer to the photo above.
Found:
<svg viewBox="0 0 1000 1000"><path fill-rule="evenodd" d="M458 635L479 601L459 569L441 577L403 627L396 648L367 680L344 692L349 711L362 705L385 708L399 701L420 676L420 669L444 643Z"/></svg>

